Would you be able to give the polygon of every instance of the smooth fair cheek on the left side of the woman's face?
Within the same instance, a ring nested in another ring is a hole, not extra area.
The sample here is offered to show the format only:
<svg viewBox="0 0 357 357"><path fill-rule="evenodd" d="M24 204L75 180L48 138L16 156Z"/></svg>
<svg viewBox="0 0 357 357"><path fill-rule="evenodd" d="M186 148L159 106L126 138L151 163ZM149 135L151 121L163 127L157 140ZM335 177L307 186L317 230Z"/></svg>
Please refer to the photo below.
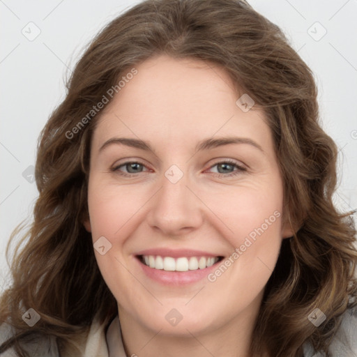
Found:
<svg viewBox="0 0 357 357"><path fill-rule="evenodd" d="M141 202L138 195L132 195L132 190L133 187L108 185L93 179L88 197L93 243L96 245L104 236L112 245L104 255L95 252L102 278L114 296L121 296L121 303L128 306L130 301L137 301L138 289L137 280L125 268L128 261L124 243L130 234L128 229L132 229L130 219Z"/></svg>

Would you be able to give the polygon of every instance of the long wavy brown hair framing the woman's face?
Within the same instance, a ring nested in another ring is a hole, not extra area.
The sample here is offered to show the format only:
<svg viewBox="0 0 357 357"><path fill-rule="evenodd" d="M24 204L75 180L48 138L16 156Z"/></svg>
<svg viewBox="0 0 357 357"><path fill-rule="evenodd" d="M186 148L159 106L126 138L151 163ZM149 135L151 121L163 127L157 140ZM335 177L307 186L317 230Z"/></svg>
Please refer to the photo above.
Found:
<svg viewBox="0 0 357 357"><path fill-rule="evenodd" d="M82 225L90 140L100 118L100 112L88 113L103 96L110 102L108 90L117 88L119 78L155 54L222 66L237 93L248 93L264 109L273 132L284 217L295 234L283 240L266 285L252 355L301 356L307 341L327 351L357 294L356 230L351 213L333 205L338 151L319 124L313 73L278 26L244 1L153 0L130 8L94 38L41 132L34 219L17 244L13 281L1 296L0 321L10 322L17 335L0 352L13 345L24 356L20 342L34 334L56 336L65 350L96 314L103 322L117 313ZM41 317L31 330L22 320L30 307ZM327 317L318 328L307 319L315 307Z"/></svg>

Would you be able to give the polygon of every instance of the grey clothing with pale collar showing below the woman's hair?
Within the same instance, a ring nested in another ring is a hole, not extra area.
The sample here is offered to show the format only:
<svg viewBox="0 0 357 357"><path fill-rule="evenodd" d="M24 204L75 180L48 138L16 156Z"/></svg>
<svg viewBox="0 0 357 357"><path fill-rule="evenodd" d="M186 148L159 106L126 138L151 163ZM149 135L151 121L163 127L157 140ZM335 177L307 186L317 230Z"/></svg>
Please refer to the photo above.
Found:
<svg viewBox="0 0 357 357"><path fill-rule="evenodd" d="M109 327L107 327L109 326ZM8 340L12 331L9 324L0 326L0 345ZM129 357L126 356L121 336L119 317L99 324L95 317L85 342L80 346L82 356L60 356L56 337L50 340L33 341L26 344L26 351L33 357ZM323 357L315 353L310 344L303 345L304 357ZM357 357L357 307L344 312L342 324L329 349L331 357ZM8 349L1 357L15 357L13 349ZM220 357L220 356L217 356Z"/></svg>

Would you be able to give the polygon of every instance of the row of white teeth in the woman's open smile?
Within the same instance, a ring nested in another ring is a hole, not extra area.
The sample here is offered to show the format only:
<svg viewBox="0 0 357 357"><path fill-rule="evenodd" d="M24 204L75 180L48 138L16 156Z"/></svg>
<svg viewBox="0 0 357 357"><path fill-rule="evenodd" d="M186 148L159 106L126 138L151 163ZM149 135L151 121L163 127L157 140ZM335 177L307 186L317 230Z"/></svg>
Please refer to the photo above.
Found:
<svg viewBox="0 0 357 357"><path fill-rule="evenodd" d="M156 257L153 255L144 255L143 262L150 268L164 271L196 271L213 266L218 261L218 257L181 257L174 259L172 257Z"/></svg>

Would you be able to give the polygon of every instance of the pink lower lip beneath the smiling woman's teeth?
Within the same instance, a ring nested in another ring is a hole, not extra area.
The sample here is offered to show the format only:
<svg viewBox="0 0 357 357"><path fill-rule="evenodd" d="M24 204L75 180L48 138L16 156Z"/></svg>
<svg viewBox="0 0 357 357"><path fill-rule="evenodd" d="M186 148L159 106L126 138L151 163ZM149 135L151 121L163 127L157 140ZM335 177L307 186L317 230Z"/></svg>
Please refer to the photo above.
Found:
<svg viewBox="0 0 357 357"><path fill-rule="evenodd" d="M142 270L149 278L167 285L183 285L198 282L199 280L207 278L207 275L220 264L219 260L212 266L208 266L204 269L197 269L196 271L164 271L163 269L150 268L150 266L142 263L139 257L135 257L135 259L139 262Z"/></svg>

